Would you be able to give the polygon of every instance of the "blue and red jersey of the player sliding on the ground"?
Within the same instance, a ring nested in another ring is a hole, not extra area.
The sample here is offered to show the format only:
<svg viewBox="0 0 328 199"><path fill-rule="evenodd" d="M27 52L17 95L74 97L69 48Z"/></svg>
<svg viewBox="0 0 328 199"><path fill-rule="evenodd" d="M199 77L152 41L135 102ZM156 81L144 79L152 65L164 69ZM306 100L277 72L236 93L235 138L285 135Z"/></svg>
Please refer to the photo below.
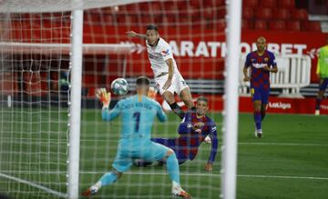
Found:
<svg viewBox="0 0 328 199"><path fill-rule="evenodd" d="M193 129L193 125L202 122L204 126L200 129ZM179 146L179 152L184 154L190 160L193 160L198 153L200 144L204 141L207 135L211 138L211 150L208 163L212 164L218 151L218 136L216 124L209 116L204 115L197 118L196 113L188 112L185 114L181 124L178 128L179 137L176 138L175 143Z"/></svg>

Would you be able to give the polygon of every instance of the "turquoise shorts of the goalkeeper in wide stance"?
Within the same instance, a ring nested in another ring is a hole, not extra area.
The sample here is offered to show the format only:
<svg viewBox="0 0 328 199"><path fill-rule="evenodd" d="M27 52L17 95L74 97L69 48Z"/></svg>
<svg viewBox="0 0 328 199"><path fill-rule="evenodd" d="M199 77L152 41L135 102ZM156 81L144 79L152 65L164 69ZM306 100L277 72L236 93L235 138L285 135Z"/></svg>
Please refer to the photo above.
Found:
<svg viewBox="0 0 328 199"><path fill-rule="evenodd" d="M147 142L138 148L125 148L124 145L118 145L118 152L114 163L112 164L118 172L126 172L131 167L133 159L143 159L146 161L159 161L168 153L169 148L154 142Z"/></svg>

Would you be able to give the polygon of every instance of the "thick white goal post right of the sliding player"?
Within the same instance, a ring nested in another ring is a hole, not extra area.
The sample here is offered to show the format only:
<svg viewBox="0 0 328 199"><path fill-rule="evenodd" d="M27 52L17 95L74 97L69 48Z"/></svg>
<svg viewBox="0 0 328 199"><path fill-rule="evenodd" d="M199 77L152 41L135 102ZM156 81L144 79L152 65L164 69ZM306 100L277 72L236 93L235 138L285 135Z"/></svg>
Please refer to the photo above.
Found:
<svg viewBox="0 0 328 199"><path fill-rule="evenodd" d="M236 57L241 55L241 0L227 1L227 10L221 196L224 199L233 199L236 198L237 181L239 79L236 78L236 75L239 76L241 66Z"/></svg>

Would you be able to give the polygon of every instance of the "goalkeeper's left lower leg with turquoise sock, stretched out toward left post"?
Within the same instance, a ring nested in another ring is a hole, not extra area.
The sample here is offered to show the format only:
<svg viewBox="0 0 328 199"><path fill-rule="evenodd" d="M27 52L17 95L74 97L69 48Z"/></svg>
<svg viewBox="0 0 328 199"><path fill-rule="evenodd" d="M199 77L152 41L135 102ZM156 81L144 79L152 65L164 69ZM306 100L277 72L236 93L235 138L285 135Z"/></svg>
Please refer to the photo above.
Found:
<svg viewBox="0 0 328 199"><path fill-rule="evenodd" d="M97 192L100 190L102 186L113 184L118 180L118 178L121 176L121 173L113 169L112 172L109 172L107 174L104 174L99 181L96 184L93 184L90 186L86 191L82 193L84 196L90 196L93 194L97 194Z"/></svg>

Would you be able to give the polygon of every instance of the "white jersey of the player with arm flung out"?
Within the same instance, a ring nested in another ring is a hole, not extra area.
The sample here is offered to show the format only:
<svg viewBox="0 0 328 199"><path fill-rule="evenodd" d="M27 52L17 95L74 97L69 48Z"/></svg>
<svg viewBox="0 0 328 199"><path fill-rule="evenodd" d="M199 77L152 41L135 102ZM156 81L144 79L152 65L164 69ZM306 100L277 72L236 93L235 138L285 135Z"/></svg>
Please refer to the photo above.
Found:
<svg viewBox="0 0 328 199"><path fill-rule="evenodd" d="M178 71L177 63L173 58L172 50L169 44L162 38L159 38L159 43L156 46L150 46L146 40L147 52L149 55L149 62L151 69L154 72L154 76L158 76L161 73L169 73L169 65L166 61L169 58L173 59L174 72Z"/></svg>

